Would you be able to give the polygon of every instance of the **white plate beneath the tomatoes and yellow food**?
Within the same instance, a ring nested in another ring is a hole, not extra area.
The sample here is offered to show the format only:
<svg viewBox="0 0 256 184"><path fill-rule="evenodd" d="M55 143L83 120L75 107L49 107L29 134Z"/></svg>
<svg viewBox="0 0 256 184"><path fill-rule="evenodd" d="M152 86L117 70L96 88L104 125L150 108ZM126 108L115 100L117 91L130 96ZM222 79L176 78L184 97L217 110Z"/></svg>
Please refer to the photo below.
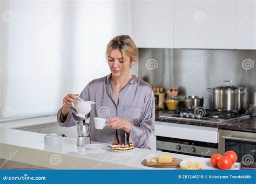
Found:
<svg viewBox="0 0 256 184"><path fill-rule="evenodd" d="M188 161L192 161L192 162L196 162L196 161L200 161L204 167L202 169L219 169L219 168L215 168L211 165L211 159L210 158L191 158L191 159L186 159L180 162L180 166L186 164L186 162ZM239 165L238 163L234 163L231 167L231 169L239 169Z"/></svg>

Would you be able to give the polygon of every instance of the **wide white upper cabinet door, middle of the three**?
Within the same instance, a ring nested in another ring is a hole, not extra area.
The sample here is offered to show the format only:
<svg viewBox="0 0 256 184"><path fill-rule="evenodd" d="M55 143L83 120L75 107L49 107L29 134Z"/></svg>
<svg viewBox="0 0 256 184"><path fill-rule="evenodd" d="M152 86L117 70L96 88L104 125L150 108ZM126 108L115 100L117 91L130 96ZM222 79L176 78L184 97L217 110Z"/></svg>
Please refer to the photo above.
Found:
<svg viewBox="0 0 256 184"><path fill-rule="evenodd" d="M235 0L174 3L174 48L235 48Z"/></svg>

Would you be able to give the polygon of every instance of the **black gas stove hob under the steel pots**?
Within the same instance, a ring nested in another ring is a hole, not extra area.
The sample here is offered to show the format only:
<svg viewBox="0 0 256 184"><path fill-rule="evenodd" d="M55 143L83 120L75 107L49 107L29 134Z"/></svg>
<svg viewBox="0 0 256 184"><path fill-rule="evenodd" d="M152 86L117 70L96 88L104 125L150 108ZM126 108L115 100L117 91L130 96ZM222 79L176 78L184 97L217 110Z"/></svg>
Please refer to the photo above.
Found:
<svg viewBox="0 0 256 184"><path fill-rule="evenodd" d="M250 115L239 115L237 111L219 112L211 109L196 108L196 109L177 109L175 111L165 112L159 116L160 118L178 119L183 121L195 121L204 123L225 123L234 120L246 119Z"/></svg>

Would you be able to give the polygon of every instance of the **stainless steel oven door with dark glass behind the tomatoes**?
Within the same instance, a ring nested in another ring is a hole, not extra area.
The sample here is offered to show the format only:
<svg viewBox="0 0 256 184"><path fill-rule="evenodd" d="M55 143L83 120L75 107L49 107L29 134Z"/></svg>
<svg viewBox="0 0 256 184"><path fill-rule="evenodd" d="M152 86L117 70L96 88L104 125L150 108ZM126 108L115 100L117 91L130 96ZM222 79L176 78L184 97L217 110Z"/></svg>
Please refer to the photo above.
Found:
<svg viewBox="0 0 256 184"><path fill-rule="evenodd" d="M219 130L219 153L230 150L237 153L237 162L256 161L256 133Z"/></svg>

